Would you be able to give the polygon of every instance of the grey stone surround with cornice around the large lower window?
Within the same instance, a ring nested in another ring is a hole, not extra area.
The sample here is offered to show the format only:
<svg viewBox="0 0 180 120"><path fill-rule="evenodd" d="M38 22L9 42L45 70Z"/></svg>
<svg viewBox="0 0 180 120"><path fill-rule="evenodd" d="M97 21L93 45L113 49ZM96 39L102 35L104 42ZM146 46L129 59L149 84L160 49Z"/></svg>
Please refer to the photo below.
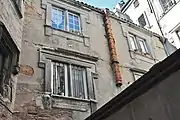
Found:
<svg viewBox="0 0 180 120"><path fill-rule="evenodd" d="M80 99L80 98L74 98L74 97L66 97L66 96L59 96L59 95L54 95L51 92L51 60L56 60L59 62L66 62L66 63L73 63L76 65L81 65L86 67L87 70L87 83L88 83L88 99ZM98 79L97 78L97 74L96 74L96 70L92 71L92 66L95 66L95 62L93 61L87 61L87 60L78 60L78 59L73 59L72 56L69 57L67 55L63 55L63 54L57 54L54 51L50 51L50 50L44 50L41 49L39 50L39 62L38 62L38 66L40 68L45 69L45 95L50 96L50 98L53 101L52 107L56 107L56 108L66 108L67 105L59 105L58 101L62 101L62 100L67 100L67 101L74 101L74 102L81 102L81 103L88 103L88 104L96 104L97 101L95 100L95 92L93 89L94 88L94 83L92 79ZM94 95L94 96L93 96ZM57 101L58 103L55 103L55 101ZM55 106L56 104L58 104L57 106ZM70 103L65 102L64 104L69 104L71 106ZM77 103L79 104L79 103ZM64 106L64 107L63 107ZM87 106L87 105L86 105ZM81 110L81 107L84 108L83 104L82 106L78 107L76 105L74 105L73 109L79 110L79 111L86 111L86 110ZM70 108L68 108L70 109Z"/></svg>

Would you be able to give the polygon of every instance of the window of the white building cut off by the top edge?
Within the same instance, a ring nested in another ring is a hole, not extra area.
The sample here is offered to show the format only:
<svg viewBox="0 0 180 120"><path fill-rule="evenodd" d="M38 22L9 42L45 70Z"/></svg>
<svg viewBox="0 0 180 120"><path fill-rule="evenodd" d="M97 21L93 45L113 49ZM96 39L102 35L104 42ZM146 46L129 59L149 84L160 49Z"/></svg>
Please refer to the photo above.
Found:
<svg viewBox="0 0 180 120"><path fill-rule="evenodd" d="M159 0L164 12L173 6L172 0Z"/></svg>

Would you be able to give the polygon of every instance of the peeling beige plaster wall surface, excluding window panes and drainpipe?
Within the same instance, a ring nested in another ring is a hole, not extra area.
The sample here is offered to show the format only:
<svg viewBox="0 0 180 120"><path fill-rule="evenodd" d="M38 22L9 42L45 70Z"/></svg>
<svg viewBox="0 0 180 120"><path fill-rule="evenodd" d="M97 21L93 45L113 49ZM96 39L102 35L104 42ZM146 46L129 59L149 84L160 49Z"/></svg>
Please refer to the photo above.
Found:
<svg viewBox="0 0 180 120"><path fill-rule="evenodd" d="M112 18L124 84L117 87L110 63L102 10L65 0L27 0L24 5L21 73L17 84L14 120L24 119L24 116L29 119L83 120L96 107L100 108L134 81L130 68L136 72L146 72L166 57L158 37L133 24ZM76 34L53 28L52 6L79 14L81 32ZM143 57L131 51L132 60L131 52L128 52L128 32L131 31L148 38L147 44L152 46L152 57ZM79 65L86 69L86 99L69 97L66 92L65 96L53 93L52 61L66 63L67 66Z"/></svg>

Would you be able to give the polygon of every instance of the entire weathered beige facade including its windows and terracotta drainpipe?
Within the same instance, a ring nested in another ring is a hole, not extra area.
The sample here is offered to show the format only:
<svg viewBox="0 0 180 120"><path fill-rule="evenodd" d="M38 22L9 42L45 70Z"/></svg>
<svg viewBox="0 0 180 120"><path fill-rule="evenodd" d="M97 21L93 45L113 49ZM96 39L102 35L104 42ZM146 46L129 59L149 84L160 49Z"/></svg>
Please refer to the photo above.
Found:
<svg viewBox="0 0 180 120"><path fill-rule="evenodd" d="M166 57L163 38L126 15L74 0L24 8L13 120L83 120Z"/></svg>

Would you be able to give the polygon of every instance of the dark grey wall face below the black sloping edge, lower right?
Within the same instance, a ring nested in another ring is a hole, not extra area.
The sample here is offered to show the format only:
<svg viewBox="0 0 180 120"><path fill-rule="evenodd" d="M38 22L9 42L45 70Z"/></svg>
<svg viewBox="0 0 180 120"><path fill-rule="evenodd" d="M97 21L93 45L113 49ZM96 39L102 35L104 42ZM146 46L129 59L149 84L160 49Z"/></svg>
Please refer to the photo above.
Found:
<svg viewBox="0 0 180 120"><path fill-rule="evenodd" d="M179 75L177 70L165 79L162 77L156 86L103 120L179 120Z"/></svg>

